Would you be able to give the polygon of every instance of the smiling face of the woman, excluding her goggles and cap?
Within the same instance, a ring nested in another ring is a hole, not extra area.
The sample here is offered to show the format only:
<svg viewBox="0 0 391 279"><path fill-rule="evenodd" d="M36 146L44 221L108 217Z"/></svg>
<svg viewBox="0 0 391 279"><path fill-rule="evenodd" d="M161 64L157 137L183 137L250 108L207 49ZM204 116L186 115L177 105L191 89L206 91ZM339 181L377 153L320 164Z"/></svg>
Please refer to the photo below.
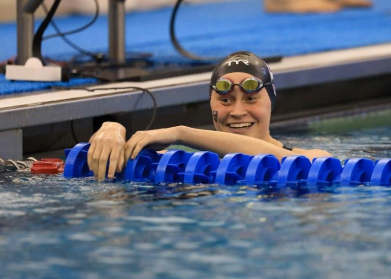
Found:
<svg viewBox="0 0 391 279"><path fill-rule="evenodd" d="M229 73L221 78L230 80L232 84L241 84L253 76L247 73ZM271 101L265 88L253 94L244 93L239 86L234 86L230 93L224 95L213 90L211 110L216 131L261 140L270 138Z"/></svg>

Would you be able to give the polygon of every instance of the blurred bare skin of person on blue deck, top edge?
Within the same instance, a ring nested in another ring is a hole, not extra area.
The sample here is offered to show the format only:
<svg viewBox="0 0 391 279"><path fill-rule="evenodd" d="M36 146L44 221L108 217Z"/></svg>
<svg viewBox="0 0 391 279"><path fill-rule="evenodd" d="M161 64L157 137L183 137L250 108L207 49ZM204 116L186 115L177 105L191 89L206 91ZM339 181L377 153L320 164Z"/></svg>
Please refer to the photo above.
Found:
<svg viewBox="0 0 391 279"><path fill-rule="evenodd" d="M330 13L371 5L371 0L264 0L265 10L270 13Z"/></svg>

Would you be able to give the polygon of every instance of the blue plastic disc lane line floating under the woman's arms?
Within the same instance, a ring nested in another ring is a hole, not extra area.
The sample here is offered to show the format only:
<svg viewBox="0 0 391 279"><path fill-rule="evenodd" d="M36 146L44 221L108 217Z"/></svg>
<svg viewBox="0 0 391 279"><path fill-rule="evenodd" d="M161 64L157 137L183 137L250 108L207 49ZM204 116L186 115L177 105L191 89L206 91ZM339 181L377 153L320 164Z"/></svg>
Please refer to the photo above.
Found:
<svg viewBox="0 0 391 279"><path fill-rule="evenodd" d="M64 177L92 175L87 165L89 148L89 143L79 143L65 150ZM264 154L232 153L219 160L217 154L209 151L189 153L172 149L159 154L144 149L136 159L128 160L123 179L156 184L255 185L278 190L305 189L311 193L330 186L391 186L391 158L376 162L352 158L342 167L332 157L316 158L311 163L304 156L290 156L280 164L273 155Z"/></svg>

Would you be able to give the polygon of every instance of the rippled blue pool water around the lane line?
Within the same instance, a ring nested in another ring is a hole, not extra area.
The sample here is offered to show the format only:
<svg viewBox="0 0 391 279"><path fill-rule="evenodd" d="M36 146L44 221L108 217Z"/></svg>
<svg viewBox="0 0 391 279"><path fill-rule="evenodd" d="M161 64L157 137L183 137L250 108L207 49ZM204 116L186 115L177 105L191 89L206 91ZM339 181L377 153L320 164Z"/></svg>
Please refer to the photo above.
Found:
<svg viewBox="0 0 391 279"><path fill-rule="evenodd" d="M391 127L276 135L391 157ZM305 145L303 145L305 144ZM390 278L391 188L267 193L0 173L1 278Z"/></svg>

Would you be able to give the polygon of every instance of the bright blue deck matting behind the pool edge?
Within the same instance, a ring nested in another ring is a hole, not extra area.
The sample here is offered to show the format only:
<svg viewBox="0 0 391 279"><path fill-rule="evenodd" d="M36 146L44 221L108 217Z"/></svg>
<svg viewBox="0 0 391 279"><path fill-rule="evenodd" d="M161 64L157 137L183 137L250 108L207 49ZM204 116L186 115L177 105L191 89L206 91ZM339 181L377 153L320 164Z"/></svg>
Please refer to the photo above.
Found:
<svg viewBox="0 0 391 279"><path fill-rule="evenodd" d="M200 56L225 56L249 50L259 56L293 56L391 42L391 1L373 0L368 9L344 9L332 14L266 14L261 0L183 4L177 17L177 36L182 46ZM126 16L126 49L150 52L159 62L183 62L169 39L172 7L140 11ZM57 18L61 30L78 28L90 16ZM36 23L36 28L40 22ZM49 28L46 34L54 30ZM0 61L16 55L16 25L0 25ZM108 48L107 17L82 33L69 36L91 52ZM70 59L77 53L60 39L45 41L43 56ZM72 79L63 85L91 83ZM0 76L0 95L40 90L47 83L10 83Z"/></svg>

